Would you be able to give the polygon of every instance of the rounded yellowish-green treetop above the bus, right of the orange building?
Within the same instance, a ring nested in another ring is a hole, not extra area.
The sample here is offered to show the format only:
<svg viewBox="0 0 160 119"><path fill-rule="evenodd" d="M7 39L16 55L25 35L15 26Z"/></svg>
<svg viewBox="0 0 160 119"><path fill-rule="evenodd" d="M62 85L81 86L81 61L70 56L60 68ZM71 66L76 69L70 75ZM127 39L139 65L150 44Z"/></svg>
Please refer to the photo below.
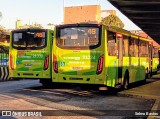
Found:
<svg viewBox="0 0 160 119"><path fill-rule="evenodd" d="M115 15L109 15L103 18L101 23L107 26L124 27L124 23Z"/></svg>

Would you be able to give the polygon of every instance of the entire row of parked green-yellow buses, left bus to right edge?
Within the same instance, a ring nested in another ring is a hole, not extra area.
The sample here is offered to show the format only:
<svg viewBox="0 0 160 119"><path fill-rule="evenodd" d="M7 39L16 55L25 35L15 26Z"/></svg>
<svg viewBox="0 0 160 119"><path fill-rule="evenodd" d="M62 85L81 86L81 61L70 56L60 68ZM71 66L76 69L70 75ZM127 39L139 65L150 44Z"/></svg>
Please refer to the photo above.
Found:
<svg viewBox="0 0 160 119"><path fill-rule="evenodd" d="M67 24L11 33L12 78L128 88L159 66L152 40L101 24Z"/></svg>

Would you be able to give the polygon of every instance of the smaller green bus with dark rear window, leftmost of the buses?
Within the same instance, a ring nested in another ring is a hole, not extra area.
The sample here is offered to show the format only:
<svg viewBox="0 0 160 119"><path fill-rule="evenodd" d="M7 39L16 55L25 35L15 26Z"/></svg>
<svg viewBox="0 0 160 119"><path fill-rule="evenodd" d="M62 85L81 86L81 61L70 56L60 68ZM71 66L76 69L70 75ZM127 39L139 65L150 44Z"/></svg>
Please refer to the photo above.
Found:
<svg viewBox="0 0 160 119"><path fill-rule="evenodd" d="M50 29L13 30L9 48L10 77L40 79L41 83L51 81L52 42Z"/></svg>

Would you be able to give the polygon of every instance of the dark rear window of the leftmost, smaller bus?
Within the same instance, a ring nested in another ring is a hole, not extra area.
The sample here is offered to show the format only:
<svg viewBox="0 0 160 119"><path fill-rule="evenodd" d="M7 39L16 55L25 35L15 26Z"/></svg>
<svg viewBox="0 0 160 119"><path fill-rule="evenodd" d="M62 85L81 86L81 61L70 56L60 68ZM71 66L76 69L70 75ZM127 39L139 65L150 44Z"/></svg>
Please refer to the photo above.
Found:
<svg viewBox="0 0 160 119"><path fill-rule="evenodd" d="M45 31L17 31L12 35L12 46L16 49L42 49L46 46Z"/></svg>

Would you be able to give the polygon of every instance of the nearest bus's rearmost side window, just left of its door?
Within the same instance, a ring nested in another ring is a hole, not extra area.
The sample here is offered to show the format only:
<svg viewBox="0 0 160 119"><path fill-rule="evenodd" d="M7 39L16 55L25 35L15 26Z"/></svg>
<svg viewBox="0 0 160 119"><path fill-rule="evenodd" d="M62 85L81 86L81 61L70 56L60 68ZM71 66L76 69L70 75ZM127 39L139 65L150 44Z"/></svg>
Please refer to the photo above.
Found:
<svg viewBox="0 0 160 119"><path fill-rule="evenodd" d="M116 37L115 33L108 31L107 32L107 40L108 40L108 55L117 56L117 45L116 45Z"/></svg>

